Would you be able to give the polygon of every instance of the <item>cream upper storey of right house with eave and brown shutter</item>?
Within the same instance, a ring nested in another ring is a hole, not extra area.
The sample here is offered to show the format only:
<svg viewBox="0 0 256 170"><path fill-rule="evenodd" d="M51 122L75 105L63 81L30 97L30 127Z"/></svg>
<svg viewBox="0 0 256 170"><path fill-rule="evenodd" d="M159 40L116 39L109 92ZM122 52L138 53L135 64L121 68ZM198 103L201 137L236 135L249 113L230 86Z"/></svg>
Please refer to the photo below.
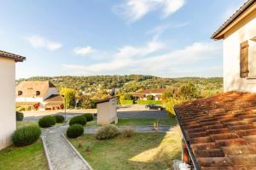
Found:
<svg viewBox="0 0 256 170"><path fill-rule="evenodd" d="M224 92L256 92L256 1L239 8L212 38L224 40Z"/></svg>

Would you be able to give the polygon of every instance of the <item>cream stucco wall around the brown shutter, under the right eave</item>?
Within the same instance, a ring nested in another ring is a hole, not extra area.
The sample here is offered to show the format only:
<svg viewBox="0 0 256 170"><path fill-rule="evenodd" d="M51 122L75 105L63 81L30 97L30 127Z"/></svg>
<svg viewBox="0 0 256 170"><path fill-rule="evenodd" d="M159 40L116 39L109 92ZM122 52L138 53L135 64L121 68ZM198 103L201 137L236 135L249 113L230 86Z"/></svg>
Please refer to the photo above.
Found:
<svg viewBox="0 0 256 170"><path fill-rule="evenodd" d="M256 92L256 11L224 34L224 92ZM249 77L240 78L240 44L249 42ZM254 77L254 78L252 78Z"/></svg>

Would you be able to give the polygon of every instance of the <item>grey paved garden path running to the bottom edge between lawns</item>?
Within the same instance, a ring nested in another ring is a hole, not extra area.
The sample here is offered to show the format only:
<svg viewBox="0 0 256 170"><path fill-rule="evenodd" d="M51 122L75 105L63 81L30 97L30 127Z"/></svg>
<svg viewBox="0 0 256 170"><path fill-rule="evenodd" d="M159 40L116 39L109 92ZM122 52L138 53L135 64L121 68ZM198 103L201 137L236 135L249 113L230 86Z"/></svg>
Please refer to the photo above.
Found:
<svg viewBox="0 0 256 170"><path fill-rule="evenodd" d="M43 131L42 139L48 152L50 170L90 170L90 167L61 136L66 129L67 126L61 126Z"/></svg>

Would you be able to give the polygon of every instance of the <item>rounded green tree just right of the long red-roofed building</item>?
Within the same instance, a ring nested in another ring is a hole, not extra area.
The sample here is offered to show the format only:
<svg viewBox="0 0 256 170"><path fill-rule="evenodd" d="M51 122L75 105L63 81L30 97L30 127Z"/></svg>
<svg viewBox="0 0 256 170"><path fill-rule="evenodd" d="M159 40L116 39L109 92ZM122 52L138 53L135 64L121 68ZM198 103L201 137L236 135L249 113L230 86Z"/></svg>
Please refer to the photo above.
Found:
<svg viewBox="0 0 256 170"><path fill-rule="evenodd" d="M183 84L178 88L177 94L185 99L195 99L200 97L199 88L192 82Z"/></svg>

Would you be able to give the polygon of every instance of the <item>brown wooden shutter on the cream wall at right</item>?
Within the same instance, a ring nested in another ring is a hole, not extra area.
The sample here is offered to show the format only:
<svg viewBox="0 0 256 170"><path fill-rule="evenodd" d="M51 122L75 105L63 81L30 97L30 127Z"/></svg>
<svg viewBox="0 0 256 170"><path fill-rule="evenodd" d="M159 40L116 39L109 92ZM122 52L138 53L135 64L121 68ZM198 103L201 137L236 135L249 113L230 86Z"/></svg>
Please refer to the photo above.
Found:
<svg viewBox="0 0 256 170"><path fill-rule="evenodd" d="M248 41L240 44L240 77L248 77Z"/></svg>

